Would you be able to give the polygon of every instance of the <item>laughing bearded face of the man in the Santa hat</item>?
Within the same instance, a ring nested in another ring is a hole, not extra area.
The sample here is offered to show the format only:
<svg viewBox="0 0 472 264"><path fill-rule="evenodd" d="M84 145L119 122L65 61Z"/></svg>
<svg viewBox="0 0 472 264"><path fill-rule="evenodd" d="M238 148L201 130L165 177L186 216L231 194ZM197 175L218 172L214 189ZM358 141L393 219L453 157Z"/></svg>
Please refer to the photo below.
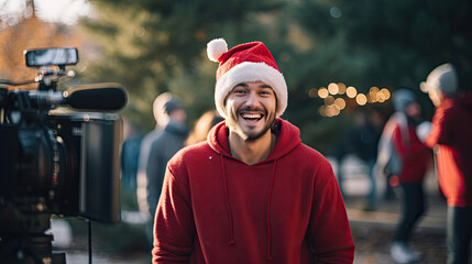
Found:
<svg viewBox="0 0 472 264"><path fill-rule="evenodd" d="M262 81L237 85L226 99L227 123L241 139L254 141L275 121L277 100L272 88Z"/></svg>

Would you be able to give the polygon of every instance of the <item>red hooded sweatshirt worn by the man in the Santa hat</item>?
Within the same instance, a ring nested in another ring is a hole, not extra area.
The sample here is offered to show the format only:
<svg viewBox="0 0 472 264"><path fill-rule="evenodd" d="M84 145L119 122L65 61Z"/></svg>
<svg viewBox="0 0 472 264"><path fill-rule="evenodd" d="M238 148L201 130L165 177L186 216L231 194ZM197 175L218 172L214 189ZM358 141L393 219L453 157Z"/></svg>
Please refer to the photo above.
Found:
<svg viewBox="0 0 472 264"><path fill-rule="evenodd" d="M268 157L230 155L228 129L171 160L154 224L153 263L352 263L354 243L328 161L276 120Z"/></svg>

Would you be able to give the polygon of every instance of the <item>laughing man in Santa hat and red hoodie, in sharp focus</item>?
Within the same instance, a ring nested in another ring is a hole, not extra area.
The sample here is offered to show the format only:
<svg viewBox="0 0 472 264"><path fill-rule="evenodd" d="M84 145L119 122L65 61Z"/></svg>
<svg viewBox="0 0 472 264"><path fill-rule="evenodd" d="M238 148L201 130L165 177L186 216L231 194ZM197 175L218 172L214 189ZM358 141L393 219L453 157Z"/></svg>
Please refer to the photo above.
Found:
<svg viewBox="0 0 472 264"><path fill-rule="evenodd" d="M207 52L224 121L169 161L153 263L352 263L331 165L279 118L287 87L267 47L218 38Z"/></svg>

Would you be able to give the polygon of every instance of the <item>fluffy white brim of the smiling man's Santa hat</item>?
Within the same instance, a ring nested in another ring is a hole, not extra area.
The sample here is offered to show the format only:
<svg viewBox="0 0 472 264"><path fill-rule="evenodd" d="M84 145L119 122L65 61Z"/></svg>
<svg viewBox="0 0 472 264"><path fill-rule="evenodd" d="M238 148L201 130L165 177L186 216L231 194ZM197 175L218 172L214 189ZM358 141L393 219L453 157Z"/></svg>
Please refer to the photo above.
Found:
<svg viewBox="0 0 472 264"><path fill-rule="evenodd" d="M224 99L227 96L237 85L248 81L262 81L271 86L277 98L275 114L281 117L284 113L287 108L288 92L282 73L265 63L244 62L228 70L216 84L215 105L221 117L227 118L224 111Z"/></svg>

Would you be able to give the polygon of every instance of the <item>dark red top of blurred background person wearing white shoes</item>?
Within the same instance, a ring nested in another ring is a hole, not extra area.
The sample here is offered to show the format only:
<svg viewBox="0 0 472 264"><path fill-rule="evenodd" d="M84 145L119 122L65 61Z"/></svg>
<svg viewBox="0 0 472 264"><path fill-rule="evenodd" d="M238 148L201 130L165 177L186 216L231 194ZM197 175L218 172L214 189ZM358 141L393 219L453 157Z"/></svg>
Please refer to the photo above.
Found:
<svg viewBox="0 0 472 264"><path fill-rule="evenodd" d="M431 165L431 152L416 135L416 128L411 124L406 127L397 124L393 132L394 146L403 162L398 179L400 184L420 183Z"/></svg>

